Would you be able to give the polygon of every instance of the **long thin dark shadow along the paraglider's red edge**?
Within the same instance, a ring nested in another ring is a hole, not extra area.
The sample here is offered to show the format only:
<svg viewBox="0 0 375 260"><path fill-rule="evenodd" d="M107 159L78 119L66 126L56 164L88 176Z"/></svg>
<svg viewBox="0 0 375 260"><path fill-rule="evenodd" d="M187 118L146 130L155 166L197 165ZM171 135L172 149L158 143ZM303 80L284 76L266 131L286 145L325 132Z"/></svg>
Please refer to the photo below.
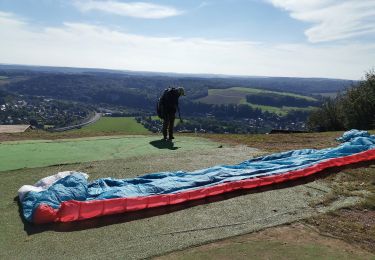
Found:
<svg viewBox="0 0 375 260"><path fill-rule="evenodd" d="M169 205L169 206L163 206L163 207L158 207L158 208L145 209L141 211L128 212L128 213L123 213L123 214L102 216L98 218L75 221L75 222L67 222L67 223L50 223L50 224L44 224L44 225L34 225L32 223L29 223L22 217L22 206L21 206L21 203L19 202L18 196L14 198L14 201L18 203L19 215L23 221L24 230L28 235L38 234L38 233L45 232L45 231L73 232L73 231L80 231L80 230L86 230L86 229L100 228L103 226L120 224L120 223L125 223L125 222L145 219L145 218L151 218L154 216L169 214L175 211L188 209L188 208L195 207L198 205L228 200L231 198L235 198L235 197L243 196L247 194L254 194L254 193L260 193L260 192L265 192L265 191L270 191L270 190L290 188L290 187L294 187L294 186L298 186L302 184L307 184L317 179L325 178L328 175L339 173L340 171L345 170L345 169L367 167L373 163L374 161L361 162L355 165L347 165L347 166L338 167L334 169L327 169L320 173L317 173L317 174L314 174L312 176L308 176L302 179L298 179L298 180L291 180L291 181L287 181L284 183L273 184L273 185L251 189L251 190L237 190L237 191L233 191L230 193L224 193L224 194L220 194L220 195L216 195L216 196L212 196L212 197L208 197L204 199L187 201L187 202L177 204L177 205Z"/></svg>

